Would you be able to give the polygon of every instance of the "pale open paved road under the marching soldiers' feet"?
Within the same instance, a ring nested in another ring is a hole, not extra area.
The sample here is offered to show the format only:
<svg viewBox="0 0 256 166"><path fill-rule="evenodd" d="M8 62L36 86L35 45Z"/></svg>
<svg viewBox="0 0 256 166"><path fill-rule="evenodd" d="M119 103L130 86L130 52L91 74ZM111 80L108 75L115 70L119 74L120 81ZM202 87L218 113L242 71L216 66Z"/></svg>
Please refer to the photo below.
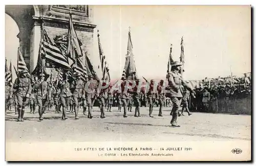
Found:
<svg viewBox="0 0 256 166"><path fill-rule="evenodd" d="M82 115L75 120L68 113L68 120L62 121L61 114L49 111L45 120L38 120L37 114L26 109L25 121L16 122L17 115L6 115L7 142L84 142L84 141L227 141L251 140L251 116L194 113L178 118L179 128L170 126L170 110L164 108L163 117L158 117L155 108L154 118L148 117L148 108L141 107L142 117L134 117L129 112L127 118L119 113L106 112L107 118L100 119L98 108L94 108L95 118Z"/></svg>

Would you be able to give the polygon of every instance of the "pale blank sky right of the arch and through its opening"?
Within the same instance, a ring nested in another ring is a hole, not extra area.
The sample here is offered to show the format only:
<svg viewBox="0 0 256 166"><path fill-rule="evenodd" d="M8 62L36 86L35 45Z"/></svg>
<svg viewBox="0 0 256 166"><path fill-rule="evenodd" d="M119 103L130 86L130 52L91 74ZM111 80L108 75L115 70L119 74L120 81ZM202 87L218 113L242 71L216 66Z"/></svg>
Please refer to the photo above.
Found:
<svg viewBox="0 0 256 166"><path fill-rule="evenodd" d="M249 6L94 6L93 14L97 26L90 58L99 76L97 30L110 76L119 79L125 63L129 26L139 77L164 79L170 44L173 44L174 61L179 61L182 36L184 79L228 76L230 71L242 75L251 71ZM8 15L6 25L7 60L16 62L18 27Z"/></svg>

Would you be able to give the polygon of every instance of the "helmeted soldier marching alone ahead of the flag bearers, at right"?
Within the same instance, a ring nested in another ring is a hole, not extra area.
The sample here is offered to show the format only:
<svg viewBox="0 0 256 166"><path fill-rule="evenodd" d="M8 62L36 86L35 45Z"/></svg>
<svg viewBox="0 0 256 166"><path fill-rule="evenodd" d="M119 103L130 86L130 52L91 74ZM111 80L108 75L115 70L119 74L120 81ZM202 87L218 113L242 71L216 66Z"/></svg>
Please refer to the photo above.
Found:
<svg viewBox="0 0 256 166"><path fill-rule="evenodd" d="M173 62L171 72L166 75L168 79L168 87L167 90L169 91L166 96L172 100L173 103L173 118L170 121L170 124L174 127L180 127L177 123L178 118L178 110L180 107L180 101L182 98L182 90L181 85L186 87L190 92L193 92L189 87L187 87L186 82L183 80L182 75L179 73L181 70L182 64L178 61Z"/></svg>

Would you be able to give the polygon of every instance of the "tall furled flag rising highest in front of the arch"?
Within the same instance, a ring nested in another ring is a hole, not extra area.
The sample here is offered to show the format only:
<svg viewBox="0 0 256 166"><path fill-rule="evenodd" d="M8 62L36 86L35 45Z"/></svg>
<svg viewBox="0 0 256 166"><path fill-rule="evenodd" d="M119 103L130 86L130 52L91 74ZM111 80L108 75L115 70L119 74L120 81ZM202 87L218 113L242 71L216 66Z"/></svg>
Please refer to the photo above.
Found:
<svg viewBox="0 0 256 166"><path fill-rule="evenodd" d="M82 49L80 47L81 43L77 38L76 31L74 29L74 24L72 21L72 14L69 17L69 32L68 32L68 48L67 56L75 63L75 59L82 57Z"/></svg>

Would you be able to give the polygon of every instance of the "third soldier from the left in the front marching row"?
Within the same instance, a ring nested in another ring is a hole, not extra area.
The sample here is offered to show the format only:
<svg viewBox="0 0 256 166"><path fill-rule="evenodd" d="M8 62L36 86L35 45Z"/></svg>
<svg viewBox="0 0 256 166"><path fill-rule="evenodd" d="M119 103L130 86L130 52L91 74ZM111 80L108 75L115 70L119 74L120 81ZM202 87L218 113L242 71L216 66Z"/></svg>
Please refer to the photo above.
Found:
<svg viewBox="0 0 256 166"><path fill-rule="evenodd" d="M63 80L59 80L58 88L60 89L59 100L60 105L62 106L62 120L66 120L67 118L67 105L70 102L70 97L72 93L70 91L70 83L68 81L67 74L63 74Z"/></svg>

